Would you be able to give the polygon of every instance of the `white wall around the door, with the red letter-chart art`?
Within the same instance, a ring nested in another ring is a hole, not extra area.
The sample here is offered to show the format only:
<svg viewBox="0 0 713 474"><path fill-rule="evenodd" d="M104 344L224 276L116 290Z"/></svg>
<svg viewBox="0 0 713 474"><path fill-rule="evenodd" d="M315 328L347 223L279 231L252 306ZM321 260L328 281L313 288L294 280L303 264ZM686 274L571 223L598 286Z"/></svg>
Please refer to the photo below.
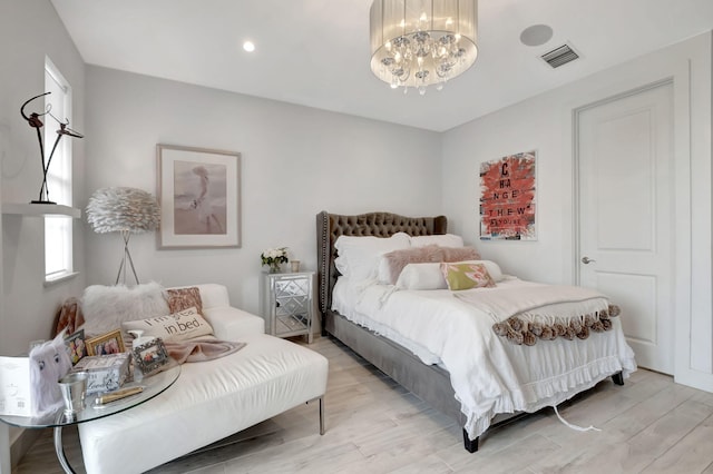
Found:
<svg viewBox="0 0 713 474"><path fill-rule="evenodd" d="M676 209L687 215L677 215L683 226L676 233L675 376L707 391L713 391L711 51L711 34L702 34L499 110L446 132L442 155L451 230L506 273L568 284L575 271L573 110L673 78L676 168L690 168L690 180L676 181ZM479 241L480 164L531 149L538 151L537 241Z"/></svg>

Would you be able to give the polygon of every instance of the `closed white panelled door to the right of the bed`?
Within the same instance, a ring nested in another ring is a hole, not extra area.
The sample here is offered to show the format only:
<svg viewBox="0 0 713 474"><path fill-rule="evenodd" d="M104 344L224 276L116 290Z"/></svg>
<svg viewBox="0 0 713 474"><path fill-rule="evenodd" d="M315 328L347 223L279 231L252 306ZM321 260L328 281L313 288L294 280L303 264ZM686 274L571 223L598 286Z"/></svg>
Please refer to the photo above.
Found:
<svg viewBox="0 0 713 474"><path fill-rule="evenodd" d="M579 284L622 308L639 366L673 374L673 86L576 118Z"/></svg>

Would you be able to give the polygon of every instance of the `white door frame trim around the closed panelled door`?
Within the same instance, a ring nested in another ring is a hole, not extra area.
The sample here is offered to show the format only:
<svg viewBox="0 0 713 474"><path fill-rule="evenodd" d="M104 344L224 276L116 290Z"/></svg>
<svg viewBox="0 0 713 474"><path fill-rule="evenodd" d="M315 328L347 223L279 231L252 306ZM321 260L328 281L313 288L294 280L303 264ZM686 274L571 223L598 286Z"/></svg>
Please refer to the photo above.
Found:
<svg viewBox="0 0 713 474"><path fill-rule="evenodd" d="M710 374L703 374L693 368L692 364L692 244L691 238L686 238L692 229L692 192L691 192L691 125L690 125L690 71L688 63L681 63L672 76L666 76L657 80L648 81L643 86L627 88L622 92L606 96L605 98L593 100L572 109L572 179L573 179L573 206L572 206L572 279L575 285L579 285L579 256L580 248L580 220L579 220L579 124L580 115L588 109L609 103L625 97L641 93L656 87L672 85L673 87L673 160L674 170L674 229L685 229L682 235L674 231L674 298L675 310L675 334L674 334L674 379L686 385L696 386L704 389L711 382Z"/></svg>

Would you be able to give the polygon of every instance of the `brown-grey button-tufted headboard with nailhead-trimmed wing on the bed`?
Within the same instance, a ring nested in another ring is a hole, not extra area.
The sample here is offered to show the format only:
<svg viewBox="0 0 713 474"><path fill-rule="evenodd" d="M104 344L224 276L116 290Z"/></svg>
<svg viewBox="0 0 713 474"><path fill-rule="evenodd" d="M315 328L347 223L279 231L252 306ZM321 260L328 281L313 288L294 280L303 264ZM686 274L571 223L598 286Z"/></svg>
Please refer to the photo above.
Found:
<svg viewBox="0 0 713 474"><path fill-rule="evenodd" d="M329 214L323 210L316 215L316 255L318 255L318 300L322 322L332 306L332 288L339 271L334 267L336 250L334 243L339 236L390 237L395 233L411 236L446 234L446 216L406 217L391 213L368 213L356 216Z"/></svg>

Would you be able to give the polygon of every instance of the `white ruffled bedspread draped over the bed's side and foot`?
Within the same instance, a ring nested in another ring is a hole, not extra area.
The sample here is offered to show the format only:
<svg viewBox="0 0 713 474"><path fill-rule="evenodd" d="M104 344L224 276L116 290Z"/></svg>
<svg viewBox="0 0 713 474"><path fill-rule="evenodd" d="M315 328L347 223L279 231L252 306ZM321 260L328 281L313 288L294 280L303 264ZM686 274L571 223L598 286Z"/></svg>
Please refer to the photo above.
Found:
<svg viewBox="0 0 713 474"><path fill-rule="evenodd" d="M509 278L496 288L469 292L537 285ZM626 378L636 371L618 318L612 319L612 330L584 340L560 337L517 346L494 333L492 316L447 289L394 292L389 285L355 287L340 278L332 300L332 308L352 322L403 345L427 364L442 365L450 373L471 440L498 413L557 405L612 374L622 371ZM570 312L573 305L547 308Z"/></svg>

